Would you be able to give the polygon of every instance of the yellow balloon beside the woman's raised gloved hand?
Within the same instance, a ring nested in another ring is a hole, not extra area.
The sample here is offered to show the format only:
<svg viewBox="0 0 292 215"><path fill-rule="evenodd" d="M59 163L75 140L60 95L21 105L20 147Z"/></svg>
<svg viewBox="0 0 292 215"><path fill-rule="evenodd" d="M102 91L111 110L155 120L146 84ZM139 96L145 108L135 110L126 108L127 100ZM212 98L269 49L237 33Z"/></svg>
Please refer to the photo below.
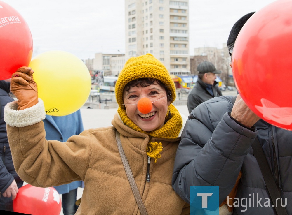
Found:
<svg viewBox="0 0 292 215"><path fill-rule="evenodd" d="M46 114L65 116L87 101L91 76L84 62L75 55L64 51L44 52L33 58L29 67L34 70Z"/></svg>

